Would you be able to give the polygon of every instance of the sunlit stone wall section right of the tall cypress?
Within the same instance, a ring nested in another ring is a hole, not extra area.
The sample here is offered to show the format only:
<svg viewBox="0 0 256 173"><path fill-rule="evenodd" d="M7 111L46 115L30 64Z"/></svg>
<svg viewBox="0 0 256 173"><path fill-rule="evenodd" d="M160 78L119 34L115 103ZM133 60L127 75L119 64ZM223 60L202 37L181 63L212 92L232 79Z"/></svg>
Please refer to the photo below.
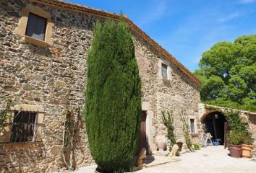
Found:
<svg viewBox="0 0 256 173"><path fill-rule="evenodd" d="M178 141L184 143L183 123L179 112L184 111L184 117L189 121L189 116L195 116L198 131L192 137L193 143L200 139L200 121L198 116L198 104L200 103L200 92L198 84L189 79L179 67L174 66L160 53L151 48L148 43L135 35L136 58L140 65L140 76L142 77L142 91L144 102L150 102L150 108L154 116L152 120L153 138L157 135L166 135L167 129L162 122L162 111L174 112L175 136ZM170 71L170 79L162 79L161 62L166 63ZM147 127L147 130L152 127ZM155 140L150 148L156 149Z"/></svg>

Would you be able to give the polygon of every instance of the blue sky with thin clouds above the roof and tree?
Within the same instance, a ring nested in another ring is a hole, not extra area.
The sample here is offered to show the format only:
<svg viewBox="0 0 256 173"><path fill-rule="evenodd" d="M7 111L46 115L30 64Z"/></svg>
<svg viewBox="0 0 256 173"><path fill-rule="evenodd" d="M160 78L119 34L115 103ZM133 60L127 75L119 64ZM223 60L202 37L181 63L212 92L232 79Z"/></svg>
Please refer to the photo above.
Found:
<svg viewBox="0 0 256 173"><path fill-rule="evenodd" d="M128 14L190 71L219 41L256 34L256 0L68 0Z"/></svg>

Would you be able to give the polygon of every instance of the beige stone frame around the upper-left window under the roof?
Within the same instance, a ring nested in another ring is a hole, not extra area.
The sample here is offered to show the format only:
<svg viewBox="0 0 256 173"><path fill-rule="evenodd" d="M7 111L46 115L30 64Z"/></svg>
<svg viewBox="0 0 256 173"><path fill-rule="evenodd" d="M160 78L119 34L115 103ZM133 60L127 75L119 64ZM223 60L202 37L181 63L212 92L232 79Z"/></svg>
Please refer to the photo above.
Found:
<svg viewBox="0 0 256 173"><path fill-rule="evenodd" d="M27 30L27 21L30 13L38 15L39 17L43 17L46 19L46 33L44 40L39 40L34 37L29 37L25 35ZM41 47L47 47L53 44L53 27L54 23L51 20L51 14L41 9L39 6L27 5L22 8L21 11L21 19L17 29L14 31L20 37L24 37L25 43L31 43L33 45L38 45Z"/></svg>

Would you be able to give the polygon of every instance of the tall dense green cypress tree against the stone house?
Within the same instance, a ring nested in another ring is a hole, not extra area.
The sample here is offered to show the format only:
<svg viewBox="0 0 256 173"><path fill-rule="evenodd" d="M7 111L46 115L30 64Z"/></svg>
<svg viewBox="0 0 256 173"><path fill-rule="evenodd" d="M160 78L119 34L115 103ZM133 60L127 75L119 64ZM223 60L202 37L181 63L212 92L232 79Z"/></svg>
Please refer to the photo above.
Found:
<svg viewBox="0 0 256 173"><path fill-rule="evenodd" d="M85 124L90 151L101 169L127 167L137 151L141 82L129 26L97 22L88 52Z"/></svg>

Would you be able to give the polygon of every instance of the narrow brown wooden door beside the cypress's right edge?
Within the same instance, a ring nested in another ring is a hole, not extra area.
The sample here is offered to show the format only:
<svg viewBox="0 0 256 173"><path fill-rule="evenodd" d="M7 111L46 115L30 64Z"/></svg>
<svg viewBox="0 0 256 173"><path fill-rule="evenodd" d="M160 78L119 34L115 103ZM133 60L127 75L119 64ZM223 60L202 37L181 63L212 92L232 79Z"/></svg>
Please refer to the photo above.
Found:
<svg viewBox="0 0 256 173"><path fill-rule="evenodd" d="M139 153L143 147L146 148L146 150L148 151L147 135L146 135L146 119L147 119L147 112L142 111L141 123L140 123Z"/></svg>

